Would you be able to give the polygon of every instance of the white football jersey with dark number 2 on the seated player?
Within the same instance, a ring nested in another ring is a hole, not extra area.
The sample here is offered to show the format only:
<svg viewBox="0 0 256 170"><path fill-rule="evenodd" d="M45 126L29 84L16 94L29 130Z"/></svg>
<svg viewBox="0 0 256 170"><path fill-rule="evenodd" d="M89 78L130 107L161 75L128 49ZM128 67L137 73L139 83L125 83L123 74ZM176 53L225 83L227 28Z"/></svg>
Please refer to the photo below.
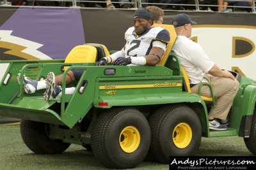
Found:
<svg viewBox="0 0 256 170"><path fill-rule="evenodd" d="M138 36L134 27L130 27L125 32L125 40L125 57L145 57L152 49L154 41L161 41L167 45L170 41L170 34L163 27L151 27ZM165 51L166 48L163 50Z"/></svg>

